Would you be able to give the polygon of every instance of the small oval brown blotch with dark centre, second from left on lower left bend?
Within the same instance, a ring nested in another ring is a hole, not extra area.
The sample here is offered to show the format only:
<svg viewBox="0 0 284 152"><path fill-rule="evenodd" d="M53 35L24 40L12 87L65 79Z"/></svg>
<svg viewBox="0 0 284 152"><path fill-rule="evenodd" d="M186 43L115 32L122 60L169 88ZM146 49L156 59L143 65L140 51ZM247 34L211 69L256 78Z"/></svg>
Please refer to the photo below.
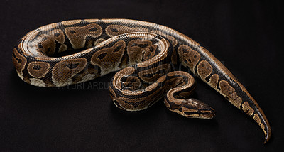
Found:
<svg viewBox="0 0 284 152"><path fill-rule="evenodd" d="M45 62L31 62L28 63L28 73L36 78L45 77L46 73L48 73L50 69L50 64Z"/></svg>

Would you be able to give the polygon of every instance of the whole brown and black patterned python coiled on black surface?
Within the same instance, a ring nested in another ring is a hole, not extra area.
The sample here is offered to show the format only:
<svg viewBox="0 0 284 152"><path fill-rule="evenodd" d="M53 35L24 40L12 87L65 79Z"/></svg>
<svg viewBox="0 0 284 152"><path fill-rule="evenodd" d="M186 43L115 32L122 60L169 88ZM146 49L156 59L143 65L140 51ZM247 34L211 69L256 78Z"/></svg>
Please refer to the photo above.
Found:
<svg viewBox="0 0 284 152"><path fill-rule="evenodd" d="M262 109L236 77L206 48L166 26L129 19L51 23L23 36L12 58L18 76L31 85L62 87L119 70L109 85L116 107L138 111L164 98L170 111L211 119L214 109L189 98L194 78L173 71L182 63L251 116L265 134L264 143L271 137Z"/></svg>

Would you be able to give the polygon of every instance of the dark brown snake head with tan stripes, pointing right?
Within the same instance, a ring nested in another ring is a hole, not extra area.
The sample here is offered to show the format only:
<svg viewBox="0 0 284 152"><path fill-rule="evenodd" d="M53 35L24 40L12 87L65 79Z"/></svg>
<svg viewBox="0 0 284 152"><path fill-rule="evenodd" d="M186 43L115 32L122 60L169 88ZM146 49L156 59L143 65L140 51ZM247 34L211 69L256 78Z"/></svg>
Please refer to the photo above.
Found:
<svg viewBox="0 0 284 152"><path fill-rule="evenodd" d="M183 99L180 104L180 114L188 118L212 119L215 110L197 99Z"/></svg>

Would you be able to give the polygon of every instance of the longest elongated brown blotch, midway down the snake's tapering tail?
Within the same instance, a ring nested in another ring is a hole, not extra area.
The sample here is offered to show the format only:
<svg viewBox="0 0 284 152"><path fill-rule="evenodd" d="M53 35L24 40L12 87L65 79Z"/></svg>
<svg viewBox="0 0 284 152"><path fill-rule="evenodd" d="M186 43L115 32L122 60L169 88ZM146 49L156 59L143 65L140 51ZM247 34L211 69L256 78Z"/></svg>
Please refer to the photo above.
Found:
<svg viewBox="0 0 284 152"><path fill-rule="evenodd" d="M226 80L221 80L219 82L220 91L224 94L225 97L228 97L229 102L236 106L238 109L241 109L241 97L236 94L236 91L231 85L229 85Z"/></svg>

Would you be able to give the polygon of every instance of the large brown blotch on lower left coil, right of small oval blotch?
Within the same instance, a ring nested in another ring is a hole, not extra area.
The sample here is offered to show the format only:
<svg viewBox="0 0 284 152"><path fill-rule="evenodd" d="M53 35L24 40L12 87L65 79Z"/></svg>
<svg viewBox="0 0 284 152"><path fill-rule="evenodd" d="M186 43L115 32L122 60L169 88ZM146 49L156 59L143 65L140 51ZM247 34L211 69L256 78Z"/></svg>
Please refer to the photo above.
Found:
<svg viewBox="0 0 284 152"><path fill-rule="evenodd" d="M84 70L86 65L87 60L85 58L62 60L56 63L53 67L53 81L58 82L57 86L61 86L61 84L65 83L71 83L68 80Z"/></svg>

